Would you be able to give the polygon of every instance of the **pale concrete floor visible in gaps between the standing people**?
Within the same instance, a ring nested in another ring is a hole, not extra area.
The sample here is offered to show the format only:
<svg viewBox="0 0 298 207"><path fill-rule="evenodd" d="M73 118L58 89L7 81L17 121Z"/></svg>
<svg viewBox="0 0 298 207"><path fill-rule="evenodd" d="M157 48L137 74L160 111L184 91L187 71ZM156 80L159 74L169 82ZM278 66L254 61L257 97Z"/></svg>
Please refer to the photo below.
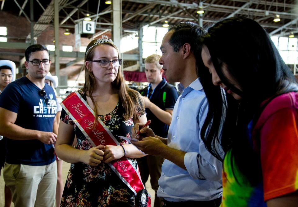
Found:
<svg viewBox="0 0 298 207"><path fill-rule="evenodd" d="M67 178L69 168L70 168L70 164L66 163L66 162L63 162L63 166L62 166L63 183L66 182L66 178ZM1 170L1 176L0 176L0 207L4 206L4 180L3 180L3 176L2 176L2 170ZM152 204L152 207L153 207L155 192L151 188L150 177L149 177L149 179L146 183L146 187L147 187L147 191L151 195L151 204ZM11 204L11 207L14 207L13 203Z"/></svg>

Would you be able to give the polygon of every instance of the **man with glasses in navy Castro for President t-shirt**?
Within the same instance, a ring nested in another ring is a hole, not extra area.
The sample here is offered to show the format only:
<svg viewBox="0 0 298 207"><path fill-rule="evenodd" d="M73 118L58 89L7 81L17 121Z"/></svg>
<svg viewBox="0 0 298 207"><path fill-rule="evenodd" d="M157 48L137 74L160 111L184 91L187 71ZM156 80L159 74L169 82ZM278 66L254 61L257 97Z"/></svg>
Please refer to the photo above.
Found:
<svg viewBox="0 0 298 207"><path fill-rule="evenodd" d="M54 90L44 82L51 60L43 45L29 46L25 58L28 74L0 96L0 134L8 138L3 178L15 206L54 207L57 105Z"/></svg>

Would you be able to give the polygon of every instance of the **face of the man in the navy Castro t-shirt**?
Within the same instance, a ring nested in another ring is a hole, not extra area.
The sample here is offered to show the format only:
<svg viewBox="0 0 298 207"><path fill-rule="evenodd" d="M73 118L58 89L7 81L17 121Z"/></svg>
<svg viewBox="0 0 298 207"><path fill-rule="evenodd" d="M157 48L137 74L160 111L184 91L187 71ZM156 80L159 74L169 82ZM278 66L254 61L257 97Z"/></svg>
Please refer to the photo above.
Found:
<svg viewBox="0 0 298 207"><path fill-rule="evenodd" d="M40 62L39 65L35 65L35 62L47 62L47 60L49 60L49 53L46 50L32 52L29 55L29 61L25 61L25 66L28 69L29 75L34 79L43 79L46 77L50 70L51 61L49 61L48 65L43 64L43 62Z"/></svg>

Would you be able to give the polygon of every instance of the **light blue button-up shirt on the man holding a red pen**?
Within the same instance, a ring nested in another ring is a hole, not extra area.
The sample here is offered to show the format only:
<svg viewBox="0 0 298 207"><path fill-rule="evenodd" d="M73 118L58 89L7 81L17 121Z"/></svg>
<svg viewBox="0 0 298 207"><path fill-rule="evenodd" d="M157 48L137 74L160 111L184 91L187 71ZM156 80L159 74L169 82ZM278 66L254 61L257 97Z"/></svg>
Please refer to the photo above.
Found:
<svg viewBox="0 0 298 207"><path fill-rule="evenodd" d="M157 196L168 201L213 200L222 196L222 162L205 148L201 128L208 112L208 101L199 79L181 93L173 110L168 146L187 152L184 170L169 160L161 167Z"/></svg>

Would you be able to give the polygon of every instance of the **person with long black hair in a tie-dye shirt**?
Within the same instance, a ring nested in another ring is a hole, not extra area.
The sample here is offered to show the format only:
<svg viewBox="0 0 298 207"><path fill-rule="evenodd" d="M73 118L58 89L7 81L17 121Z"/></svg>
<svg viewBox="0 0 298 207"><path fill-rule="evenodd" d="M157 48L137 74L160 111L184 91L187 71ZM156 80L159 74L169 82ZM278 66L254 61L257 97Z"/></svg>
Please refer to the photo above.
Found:
<svg viewBox="0 0 298 207"><path fill-rule="evenodd" d="M201 131L224 164L222 206L298 206L296 78L254 20L220 21L203 43L201 83L222 89L222 95L206 94Z"/></svg>

